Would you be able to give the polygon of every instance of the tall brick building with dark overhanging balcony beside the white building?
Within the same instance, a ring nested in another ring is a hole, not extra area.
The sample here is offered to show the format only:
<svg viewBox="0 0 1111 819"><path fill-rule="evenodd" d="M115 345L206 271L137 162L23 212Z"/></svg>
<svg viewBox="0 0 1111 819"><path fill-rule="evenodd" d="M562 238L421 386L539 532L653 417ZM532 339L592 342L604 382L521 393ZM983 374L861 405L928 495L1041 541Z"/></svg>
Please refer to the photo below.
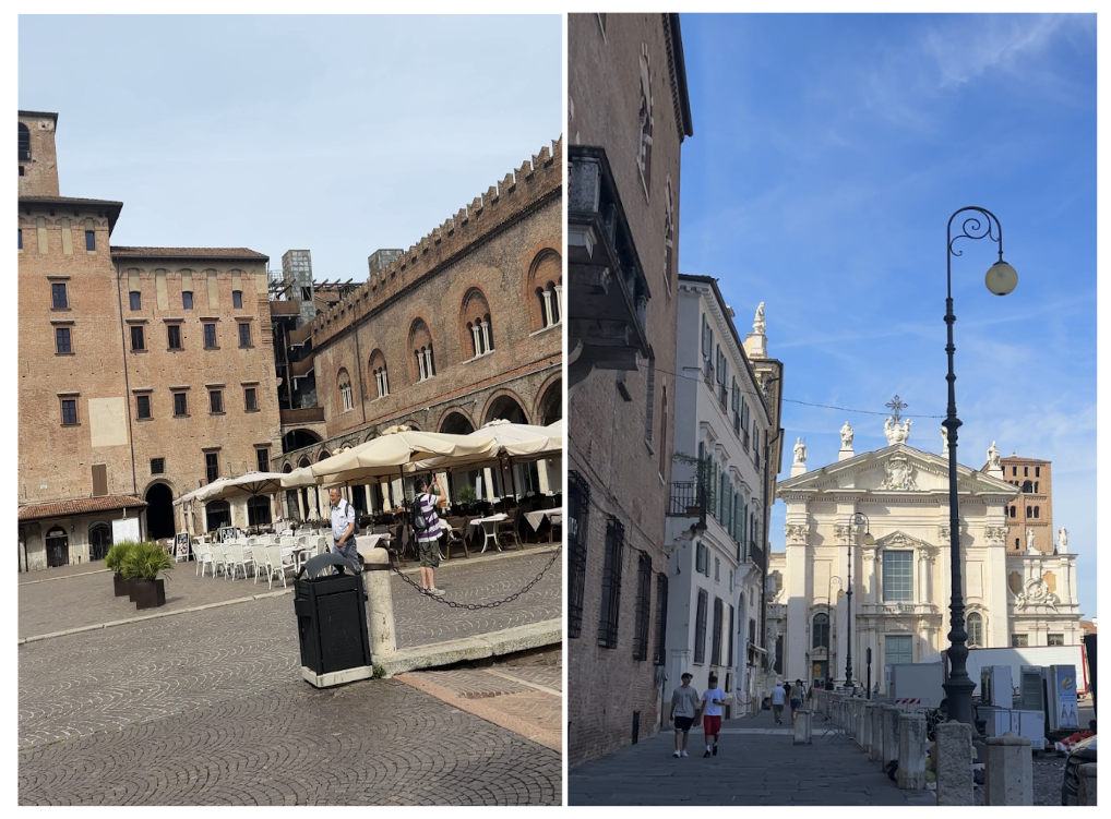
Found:
<svg viewBox="0 0 1111 819"><path fill-rule="evenodd" d="M679 170L677 14L568 18L568 759L660 725Z"/></svg>

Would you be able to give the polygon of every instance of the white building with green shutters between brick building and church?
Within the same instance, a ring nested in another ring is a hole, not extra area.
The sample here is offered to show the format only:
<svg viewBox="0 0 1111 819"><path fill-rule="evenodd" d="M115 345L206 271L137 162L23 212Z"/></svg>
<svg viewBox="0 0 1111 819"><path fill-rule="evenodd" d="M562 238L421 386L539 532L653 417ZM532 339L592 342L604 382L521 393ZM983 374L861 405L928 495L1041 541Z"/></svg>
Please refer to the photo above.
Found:
<svg viewBox="0 0 1111 819"><path fill-rule="evenodd" d="M783 367L767 357L763 304L742 342L717 280L680 275L678 297L668 685L690 671L704 690L713 671L727 716L738 716L767 688L763 578Z"/></svg>

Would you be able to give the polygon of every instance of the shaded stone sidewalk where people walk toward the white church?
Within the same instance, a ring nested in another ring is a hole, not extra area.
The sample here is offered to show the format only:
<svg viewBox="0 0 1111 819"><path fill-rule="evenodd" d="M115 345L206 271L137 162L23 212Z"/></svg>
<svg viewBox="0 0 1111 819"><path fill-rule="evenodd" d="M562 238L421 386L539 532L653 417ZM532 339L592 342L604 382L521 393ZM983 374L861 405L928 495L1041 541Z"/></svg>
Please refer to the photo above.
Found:
<svg viewBox="0 0 1111 819"><path fill-rule="evenodd" d="M659 720L657 712L655 719ZM899 790L852 744L822 737L794 745L790 717L774 724L770 711L725 720L719 754L702 758L702 730L691 730L687 758L675 759L674 730L575 766L568 776L569 805L934 805L933 791Z"/></svg>

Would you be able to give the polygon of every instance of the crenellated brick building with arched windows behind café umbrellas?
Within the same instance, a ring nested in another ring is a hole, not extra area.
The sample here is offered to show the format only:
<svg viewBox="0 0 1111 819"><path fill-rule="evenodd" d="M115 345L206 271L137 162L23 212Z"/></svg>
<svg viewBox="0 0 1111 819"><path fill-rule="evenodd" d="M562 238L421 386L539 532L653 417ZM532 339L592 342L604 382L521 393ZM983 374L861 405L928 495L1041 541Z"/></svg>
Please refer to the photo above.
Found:
<svg viewBox="0 0 1111 819"><path fill-rule="evenodd" d="M314 317L287 336L301 346L289 376L311 377L314 402L282 410L287 446L271 461L276 471L396 424L467 434L494 418L562 417L562 161L560 140L407 251L377 251L366 283L332 287L327 305L318 286ZM283 257L283 280L286 266ZM271 307L293 312L280 304ZM519 487L559 485L543 465L518 468ZM496 473L478 477L484 494L498 488ZM391 491L351 488L362 510L380 508ZM287 493L286 514L316 516L317 494Z"/></svg>

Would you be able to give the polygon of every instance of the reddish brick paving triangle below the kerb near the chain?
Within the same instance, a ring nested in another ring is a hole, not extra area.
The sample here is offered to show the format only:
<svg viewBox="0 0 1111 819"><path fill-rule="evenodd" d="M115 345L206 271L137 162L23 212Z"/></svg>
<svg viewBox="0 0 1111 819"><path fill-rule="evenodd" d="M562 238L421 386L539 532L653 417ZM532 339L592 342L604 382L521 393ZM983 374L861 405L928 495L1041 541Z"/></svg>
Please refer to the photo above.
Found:
<svg viewBox="0 0 1111 819"><path fill-rule="evenodd" d="M562 651L398 679L556 751L563 750Z"/></svg>

